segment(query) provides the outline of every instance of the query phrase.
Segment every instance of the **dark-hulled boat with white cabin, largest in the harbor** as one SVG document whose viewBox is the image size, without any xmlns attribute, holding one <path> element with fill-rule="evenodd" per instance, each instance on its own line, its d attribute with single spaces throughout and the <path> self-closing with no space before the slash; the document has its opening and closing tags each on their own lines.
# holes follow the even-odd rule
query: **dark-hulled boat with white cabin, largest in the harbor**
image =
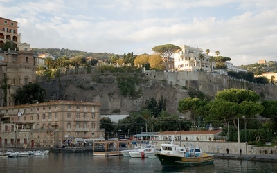
<svg viewBox="0 0 277 173">
<path fill-rule="evenodd" d="M 161 152 L 155 154 L 163 167 L 190 167 L 197 165 L 213 164 L 213 154 L 202 153 L 202 150 L 190 147 L 175 145 L 173 140 L 170 144 L 161 144 Z"/>
</svg>

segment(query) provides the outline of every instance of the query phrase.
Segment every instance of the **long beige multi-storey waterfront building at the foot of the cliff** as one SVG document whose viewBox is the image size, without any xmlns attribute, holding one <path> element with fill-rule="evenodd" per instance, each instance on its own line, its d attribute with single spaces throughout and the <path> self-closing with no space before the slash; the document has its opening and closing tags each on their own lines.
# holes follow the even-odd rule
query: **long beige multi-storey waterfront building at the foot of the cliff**
<svg viewBox="0 0 277 173">
<path fill-rule="evenodd" d="M 0 146 L 62 147 L 64 140 L 102 138 L 100 104 L 56 101 L 0 108 Z"/>
</svg>

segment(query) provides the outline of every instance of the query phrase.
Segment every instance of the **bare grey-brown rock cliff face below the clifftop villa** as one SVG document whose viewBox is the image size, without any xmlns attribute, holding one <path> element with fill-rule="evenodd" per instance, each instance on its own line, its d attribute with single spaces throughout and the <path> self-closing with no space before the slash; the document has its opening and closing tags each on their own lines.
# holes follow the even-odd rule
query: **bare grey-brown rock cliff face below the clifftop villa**
<svg viewBox="0 0 277 173">
<path fill-rule="evenodd" d="M 187 89 L 194 89 L 214 98 L 217 91 L 230 88 L 251 89 L 263 93 L 265 100 L 276 100 L 277 87 L 252 84 L 231 80 L 226 75 L 215 73 L 159 72 L 145 73 L 143 83 L 138 88 L 141 93 L 136 98 L 123 97 L 116 81 L 117 73 L 67 75 L 53 80 L 38 80 L 46 89 L 47 100 L 76 100 L 83 102 L 100 102 L 100 114 L 129 114 L 139 111 L 145 100 L 161 96 L 166 98 L 167 111 L 181 115 L 177 111 L 179 100 L 188 97 Z M 184 87 L 186 86 L 186 87 Z"/>
</svg>

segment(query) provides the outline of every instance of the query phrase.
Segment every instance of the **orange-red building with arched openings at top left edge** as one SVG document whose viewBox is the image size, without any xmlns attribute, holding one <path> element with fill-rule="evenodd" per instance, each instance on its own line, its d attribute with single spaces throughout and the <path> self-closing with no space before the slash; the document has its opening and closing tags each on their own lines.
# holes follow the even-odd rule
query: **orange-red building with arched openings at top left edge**
<svg viewBox="0 0 277 173">
<path fill-rule="evenodd" d="M 0 46 L 8 40 L 15 42 L 19 46 L 21 35 L 17 29 L 17 21 L 0 17 Z"/>
</svg>

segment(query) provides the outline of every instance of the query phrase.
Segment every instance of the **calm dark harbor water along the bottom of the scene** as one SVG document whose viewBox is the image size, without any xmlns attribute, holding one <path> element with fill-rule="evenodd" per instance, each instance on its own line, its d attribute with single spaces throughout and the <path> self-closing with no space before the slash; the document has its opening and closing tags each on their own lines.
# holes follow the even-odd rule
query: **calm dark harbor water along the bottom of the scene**
<svg viewBox="0 0 277 173">
<path fill-rule="evenodd" d="M 276 172 L 276 163 L 215 159 L 213 165 L 161 166 L 158 158 L 93 156 L 92 153 L 50 153 L 46 156 L 0 158 L 0 172 Z"/>
</svg>

